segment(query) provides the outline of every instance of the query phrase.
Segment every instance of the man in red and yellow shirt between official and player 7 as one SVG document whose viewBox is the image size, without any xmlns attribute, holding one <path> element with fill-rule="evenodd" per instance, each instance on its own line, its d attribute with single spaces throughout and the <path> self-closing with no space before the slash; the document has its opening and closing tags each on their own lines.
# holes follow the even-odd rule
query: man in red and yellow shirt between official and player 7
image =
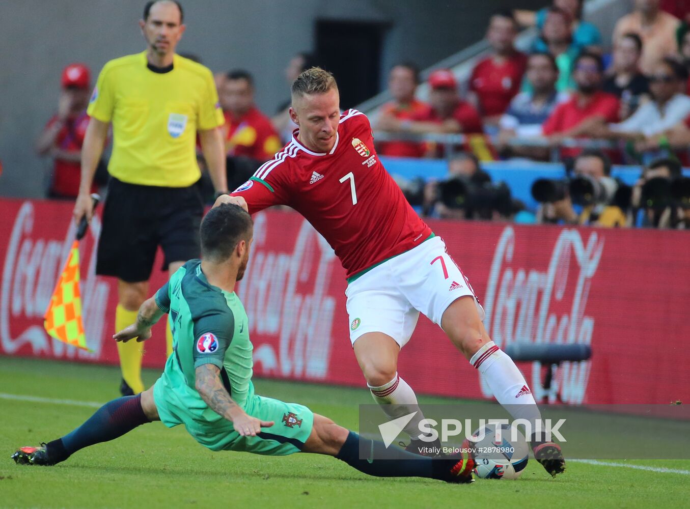
<svg viewBox="0 0 690 509">
<path fill-rule="evenodd" d="M 254 80 L 244 70 L 228 72 L 218 99 L 227 154 L 228 189 L 246 182 L 262 163 L 282 148 L 273 123 L 254 104 Z"/>
</svg>

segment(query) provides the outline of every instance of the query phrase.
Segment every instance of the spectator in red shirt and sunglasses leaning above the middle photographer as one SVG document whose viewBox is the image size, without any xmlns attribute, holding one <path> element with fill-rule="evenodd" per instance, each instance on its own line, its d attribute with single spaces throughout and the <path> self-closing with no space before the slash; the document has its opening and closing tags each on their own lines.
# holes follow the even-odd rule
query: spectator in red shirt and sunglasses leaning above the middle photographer
<svg viewBox="0 0 690 509">
<path fill-rule="evenodd" d="M 573 78 L 577 86 L 571 99 L 556 106 L 546 119 L 544 134 L 558 143 L 563 138 L 587 137 L 589 130 L 618 122 L 620 101 L 602 91 L 604 63 L 595 53 L 583 52 L 575 59 Z M 575 157 L 581 148 L 564 148 L 562 157 Z"/>
</svg>

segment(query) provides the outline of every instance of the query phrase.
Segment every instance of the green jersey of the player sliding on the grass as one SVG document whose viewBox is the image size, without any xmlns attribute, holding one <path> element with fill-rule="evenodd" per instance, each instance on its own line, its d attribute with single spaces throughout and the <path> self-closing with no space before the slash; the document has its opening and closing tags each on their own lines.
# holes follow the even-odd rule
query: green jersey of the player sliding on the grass
<svg viewBox="0 0 690 509">
<path fill-rule="evenodd" d="M 245 408 L 254 395 L 253 346 L 247 315 L 235 292 L 210 285 L 201 272 L 201 261 L 193 259 L 158 290 L 155 301 L 168 313 L 172 329 L 173 353 L 161 376 L 164 386 L 174 392 L 195 421 L 222 420 L 195 389 L 196 368 L 213 364 L 220 368 L 230 396 Z"/>
</svg>

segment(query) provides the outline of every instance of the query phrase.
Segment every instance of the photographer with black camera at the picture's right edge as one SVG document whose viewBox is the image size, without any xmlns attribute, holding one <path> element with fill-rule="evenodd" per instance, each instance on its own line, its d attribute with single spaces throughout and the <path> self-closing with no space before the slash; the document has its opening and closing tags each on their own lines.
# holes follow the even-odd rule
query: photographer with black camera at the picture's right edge
<svg viewBox="0 0 690 509">
<path fill-rule="evenodd" d="M 642 170 L 633 187 L 635 226 L 690 228 L 690 178 L 683 177 L 676 159 L 656 159 Z"/>
</svg>

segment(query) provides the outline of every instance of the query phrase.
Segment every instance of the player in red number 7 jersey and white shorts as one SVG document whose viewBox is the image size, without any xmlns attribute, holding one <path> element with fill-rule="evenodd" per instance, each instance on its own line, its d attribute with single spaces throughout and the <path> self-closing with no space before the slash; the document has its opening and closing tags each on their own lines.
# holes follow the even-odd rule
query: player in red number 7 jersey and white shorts
<svg viewBox="0 0 690 509">
<path fill-rule="evenodd" d="M 290 117 L 298 126 L 292 141 L 216 203 L 237 203 L 250 213 L 288 205 L 331 244 L 347 270 L 350 340 L 367 386 L 392 419 L 414 412 L 404 427 L 409 450 L 440 446 L 423 434 L 417 397 L 397 372 L 400 348 L 420 312 L 441 326 L 513 417 L 535 426 L 541 416 L 522 373 L 491 341 L 484 310 L 444 241 L 415 214 L 378 159 L 366 116 L 340 113 L 335 79 L 319 68 L 299 74 L 292 101 Z M 559 446 L 527 435 L 544 468 L 562 472 Z"/>
</svg>

